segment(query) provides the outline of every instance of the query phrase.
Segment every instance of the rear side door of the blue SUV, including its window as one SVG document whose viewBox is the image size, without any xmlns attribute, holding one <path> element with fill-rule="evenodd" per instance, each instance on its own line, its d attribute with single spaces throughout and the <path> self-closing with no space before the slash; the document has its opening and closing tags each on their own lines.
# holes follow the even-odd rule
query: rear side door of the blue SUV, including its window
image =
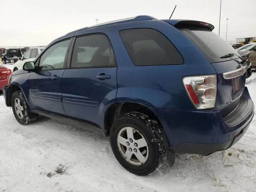
<svg viewBox="0 0 256 192">
<path fill-rule="evenodd" d="M 96 123 L 99 109 L 116 98 L 116 60 L 103 34 L 76 38 L 70 68 L 62 77 L 62 102 L 68 116 Z"/>
</svg>

